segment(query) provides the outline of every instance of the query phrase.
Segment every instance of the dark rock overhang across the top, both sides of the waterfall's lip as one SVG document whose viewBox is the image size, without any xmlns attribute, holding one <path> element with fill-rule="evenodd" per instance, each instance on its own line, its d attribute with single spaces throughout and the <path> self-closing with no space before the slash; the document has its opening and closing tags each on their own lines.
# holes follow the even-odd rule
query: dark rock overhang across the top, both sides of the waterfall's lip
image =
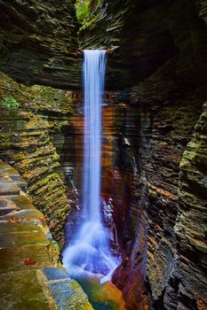
<svg viewBox="0 0 207 310">
<path fill-rule="evenodd" d="M 198 32 L 205 33 L 204 1 L 103 0 L 91 6 L 80 27 L 73 1 L 2 1 L 2 70 L 28 84 L 80 89 L 78 47 L 113 50 L 107 89 L 123 89 L 147 79 L 187 44 L 196 49 Z"/>
</svg>

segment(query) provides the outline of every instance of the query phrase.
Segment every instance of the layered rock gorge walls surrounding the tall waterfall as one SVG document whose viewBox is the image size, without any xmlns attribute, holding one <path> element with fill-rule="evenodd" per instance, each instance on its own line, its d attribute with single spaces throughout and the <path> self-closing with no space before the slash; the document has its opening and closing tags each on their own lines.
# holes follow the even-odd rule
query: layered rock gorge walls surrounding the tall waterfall
<svg viewBox="0 0 207 310">
<path fill-rule="evenodd" d="M 110 250 L 122 261 L 102 296 L 123 298 L 129 310 L 206 309 L 206 2 L 9 0 L 0 9 L 0 157 L 28 183 L 60 249 L 82 208 L 81 50 L 108 50 L 100 206 Z M 16 215 L 4 212 L 0 228 L 9 230 Z M 30 273 L 42 267 L 25 268 L 32 286 Z M 2 267 L 0 276 L 15 278 L 11 272 Z M 35 292 L 28 307 L 23 293 L 10 306 L 6 285 L 1 292 L 4 309 L 52 308 L 36 306 Z"/>
</svg>

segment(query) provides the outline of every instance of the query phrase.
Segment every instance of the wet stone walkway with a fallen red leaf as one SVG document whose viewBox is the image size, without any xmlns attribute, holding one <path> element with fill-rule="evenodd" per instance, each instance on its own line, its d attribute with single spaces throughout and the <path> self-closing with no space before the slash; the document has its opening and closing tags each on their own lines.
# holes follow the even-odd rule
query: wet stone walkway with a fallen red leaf
<svg viewBox="0 0 207 310">
<path fill-rule="evenodd" d="M 92 310 L 26 191 L 18 172 L 0 160 L 0 309 Z"/>
</svg>

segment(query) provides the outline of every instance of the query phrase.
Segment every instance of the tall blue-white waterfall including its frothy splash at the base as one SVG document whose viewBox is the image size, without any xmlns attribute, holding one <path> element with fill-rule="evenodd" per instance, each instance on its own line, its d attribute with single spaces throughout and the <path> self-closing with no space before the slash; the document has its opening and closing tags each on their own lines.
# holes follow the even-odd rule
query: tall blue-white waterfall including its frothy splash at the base
<svg viewBox="0 0 207 310">
<path fill-rule="evenodd" d="M 101 101 L 106 68 L 105 50 L 84 50 L 84 190 L 81 225 L 62 252 L 70 276 L 107 280 L 118 261 L 110 253 L 108 232 L 100 212 Z M 104 280 L 105 279 L 105 280 Z"/>
</svg>

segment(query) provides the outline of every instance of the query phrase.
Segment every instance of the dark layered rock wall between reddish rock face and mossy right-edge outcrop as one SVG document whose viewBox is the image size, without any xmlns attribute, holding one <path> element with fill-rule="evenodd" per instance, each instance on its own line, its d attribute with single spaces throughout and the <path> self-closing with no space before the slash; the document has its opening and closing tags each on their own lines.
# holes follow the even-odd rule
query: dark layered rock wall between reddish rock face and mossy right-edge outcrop
<svg viewBox="0 0 207 310">
<path fill-rule="evenodd" d="M 188 57 L 190 59 L 189 55 Z M 147 178 L 147 196 L 142 199 L 142 205 L 147 211 L 147 277 L 155 308 L 158 309 L 197 309 L 200 301 L 199 298 L 195 298 L 196 290 L 200 291 L 197 296 L 202 298 L 201 305 L 205 303 L 203 280 L 196 278 L 194 289 L 187 281 L 195 272 L 191 269 L 191 262 L 187 265 L 187 261 L 191 261 L 192 257 L 190 252 L 179 252 L 178 249 L 184 244 L 181 240 L 178 242 L 176 231 L 178 212 L 183 208 L 179 199 L 182 182 L 182 166 L 179 167 L 179 163 L 185 160 L 186 152 L 183 151 L 193 135 L 195 124 L 202 113 L 203 102 L 206 100 L 206 81 L 203 79 L 206 73 L 203 70 L 201 74 L 197 74 L 197 79 L 191 80 L 190 76 L 193 76 L 196 66 L 193 66 L 192 61 L 192 66 L 188 67 L 188 71 L 184 71 L 181 58 L 180 55 L 180 60 L 171 59 L 131 91 L 131 100 L 134 103 L 149 105 L 152 109 L 149 155 L 142 166 Z M 203 155 L 201 158 L 203 159 Z M 202 159 L 200 165 L 204 168 Z M 188 190 L 193 194 L 195 187 L 191 185 Z M 202 198 L 202 190 L 197 191 L 197 195 L 201 195 Z M 182 223 L 187 229 L 188 221 Z M 194 228 L 202 233 L 202 227 L 194 219 L 189 229 Z M 181 234 L 185 236 L 184 230 L 182 229 Z M 197 262 L 196 268 L 203 279 L 203 263 Z"/>
</svg>

